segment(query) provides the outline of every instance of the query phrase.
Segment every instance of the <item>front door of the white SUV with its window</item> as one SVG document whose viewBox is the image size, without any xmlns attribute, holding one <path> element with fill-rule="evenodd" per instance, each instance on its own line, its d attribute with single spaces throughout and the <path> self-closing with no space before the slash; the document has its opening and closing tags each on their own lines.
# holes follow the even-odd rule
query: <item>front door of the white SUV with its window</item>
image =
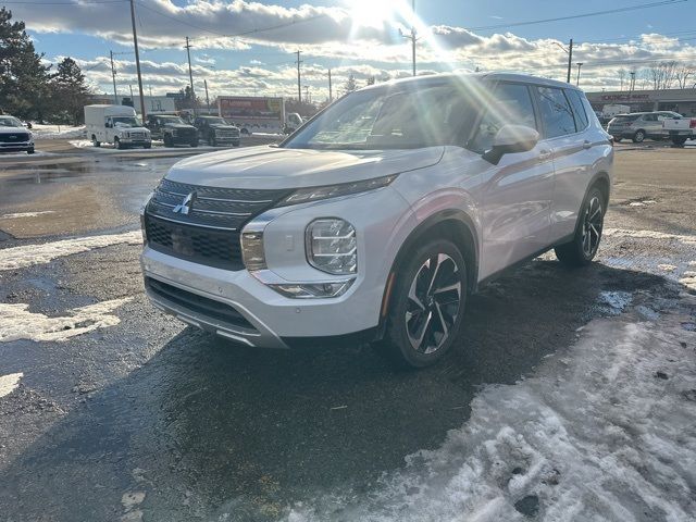
<svg viewBox="0 0 696 522">
<path fill-rule="evenodd" d="M 467 148 L 483 152 L 504 125 L 540 129 L 530 87 L 500 83 Z M 554 162 L 548 146 L 505 154 L 498 165 L 485 160 L 482 172 L 482 241 L 480 278 L 485 278 L 543 249 L 548 244 Z"/>
</svg>

